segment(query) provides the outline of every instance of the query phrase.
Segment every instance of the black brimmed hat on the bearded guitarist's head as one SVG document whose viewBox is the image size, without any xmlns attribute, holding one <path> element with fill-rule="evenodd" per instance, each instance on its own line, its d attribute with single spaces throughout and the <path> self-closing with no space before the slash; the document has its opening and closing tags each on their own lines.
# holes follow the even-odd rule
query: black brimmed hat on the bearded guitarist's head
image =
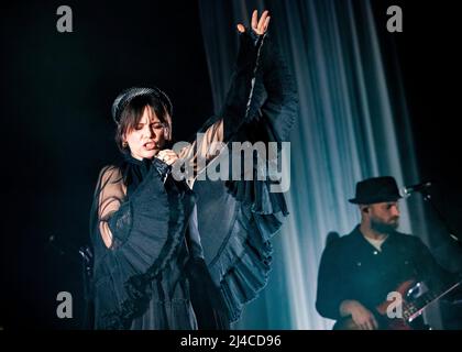
<svg viewBox="0 0 462 352">
<path fill-rule="evenodd" d="M 392 176 L 366 178 L 356 184 L 356 195 L 349 199 L 354 205 L 373 205 L 383 201 L 396 201 L 399 195 L 396 180 Z"/>
</svg>

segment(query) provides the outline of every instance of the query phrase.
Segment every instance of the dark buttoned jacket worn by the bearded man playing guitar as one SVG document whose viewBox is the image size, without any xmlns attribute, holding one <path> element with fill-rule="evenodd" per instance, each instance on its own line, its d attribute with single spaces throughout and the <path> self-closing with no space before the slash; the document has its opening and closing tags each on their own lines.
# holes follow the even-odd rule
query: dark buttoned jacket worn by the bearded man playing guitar
<svg viewBox="0 0 462 352">
<path fill-rule="evenodd" d="M 377 251 L 358 226 L 324 249 L 316 308 L 321 316 L 337 320 L 345 299 L 358 300 L 374 311 L 388 293 L 408 279 L 437 288 L 450 277 L 417 237 L 394 232 Z"/>
</svg>

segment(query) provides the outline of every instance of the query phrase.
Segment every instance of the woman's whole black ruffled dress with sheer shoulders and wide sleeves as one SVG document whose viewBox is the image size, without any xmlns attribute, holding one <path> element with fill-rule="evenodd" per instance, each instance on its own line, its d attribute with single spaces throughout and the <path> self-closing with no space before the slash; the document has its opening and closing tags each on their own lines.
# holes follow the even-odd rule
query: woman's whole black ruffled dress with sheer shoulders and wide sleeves
<svg viewBox="0 0 462 352">
<path fill-rule="evenodd" d="M 226 105 L 200 132 L 224 143 L 283 142 L 296 114 L 267 35 L 241 34 Z M 194 163 L 205 148 L 193 143 L 182 157 Z M 266 283 L 270 239 L 288 213 L 283 194 L 270 191 L 274 182 L 196 180 L 193 191 L 169 170 L 128 156 L 100 173 L 90 220 L 97 329 L 226 329 Z"/>
</svg>

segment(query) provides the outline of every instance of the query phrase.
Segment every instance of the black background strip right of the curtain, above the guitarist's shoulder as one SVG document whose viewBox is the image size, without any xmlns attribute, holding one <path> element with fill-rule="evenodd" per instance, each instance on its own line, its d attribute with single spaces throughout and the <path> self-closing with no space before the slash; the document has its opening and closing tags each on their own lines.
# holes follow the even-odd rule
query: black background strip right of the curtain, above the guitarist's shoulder
<svg viewBox="0 0 462 352">
<path fill-rule="evenodd" d="M 403 9 L 403 33 L 391 35 L 385 25 L 378 25 L 386 23 L 389 4 L 399 4 Z M 415 182 L 435 180 L 435 202 L 452 230 L 460 232 L 462 146 L 459 85 L 462 56 L 457 48 L 461 40 L 458 11 L 449 2 L 431 4 L 427 1 L 374 1 L 374 8 L 388 73 L 393 76 L 393 70 L 396 70 L 402 75 L 403 87 L 391 80 L 389 92 L 392 99 L 402 94 L 406 98 L 420 173 L 420 179 Z M 399 127 L 403 113 L 394 112 Z"/>
</svg>

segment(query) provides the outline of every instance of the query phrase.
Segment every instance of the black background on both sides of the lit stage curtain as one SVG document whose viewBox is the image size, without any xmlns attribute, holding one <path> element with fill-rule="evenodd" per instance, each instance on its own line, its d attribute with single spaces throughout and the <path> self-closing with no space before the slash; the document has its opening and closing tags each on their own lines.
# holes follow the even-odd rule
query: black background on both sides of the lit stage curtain
<svg viewBox="0 0 462 352">
<path fill-rule="evenodd" d="M 110 106 L 119 91 L 162 87 L 174 103 L 177 140 L 213 113 L 197 1 L 67 1 L 74 33 L 56 31 L 61 4 L 19 1 L 0 10 L 4 329 L 80 327 L 77 250 L 88 243 L 98 172 L 118 157 Z M 384 30 L 391 4 L 403 8 L 404 33 Z M 460 234 L 458 11 L 449 1 L 374 1 L 374 11 L 386 68 L 403 76 L 421 179 L 437 180 L 436 202 Z M 398 95 L 398 82 L 389 84 Z M 429 205 L 426 211 L 437 250 L 447 235 Z M 64 290 L 73 294 L 74 319 L 56 318 Z"/>
</svg>

